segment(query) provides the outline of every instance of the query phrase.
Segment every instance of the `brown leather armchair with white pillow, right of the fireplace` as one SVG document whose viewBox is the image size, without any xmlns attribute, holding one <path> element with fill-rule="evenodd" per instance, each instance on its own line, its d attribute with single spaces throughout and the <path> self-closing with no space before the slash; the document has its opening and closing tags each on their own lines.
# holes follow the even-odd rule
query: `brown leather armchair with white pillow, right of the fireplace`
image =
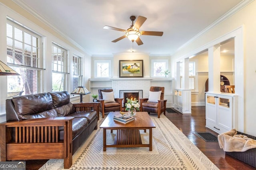
<svg viewBox="0 0 256 170">
<path fill-rule="evenodd" d="M 150 87 L 148 98 L 140 99 L 140 111 L 147 111 L 148 113 L 157 113 L 158 118 L 160 114 L 166 110 L 166 101 L 164 100 L 164 87 Z"/>
</svg>

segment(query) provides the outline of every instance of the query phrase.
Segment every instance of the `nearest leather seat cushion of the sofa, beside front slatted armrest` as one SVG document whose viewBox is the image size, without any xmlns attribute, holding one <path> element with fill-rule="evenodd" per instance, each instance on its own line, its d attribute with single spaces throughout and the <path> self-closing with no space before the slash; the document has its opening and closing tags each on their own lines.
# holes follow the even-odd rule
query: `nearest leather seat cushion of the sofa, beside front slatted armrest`
<svg viewBox="0 0 256 170">
<path fill-rule="evenodd" d="M 80 132 L 82 132 L 88 126 L 88 120 L 84 117 L 72 119 L 72 139 L 76 137 Z M 63 127 L 59 128 L 60 140 L 64 139 L 64 130 Z"/>
</svg>

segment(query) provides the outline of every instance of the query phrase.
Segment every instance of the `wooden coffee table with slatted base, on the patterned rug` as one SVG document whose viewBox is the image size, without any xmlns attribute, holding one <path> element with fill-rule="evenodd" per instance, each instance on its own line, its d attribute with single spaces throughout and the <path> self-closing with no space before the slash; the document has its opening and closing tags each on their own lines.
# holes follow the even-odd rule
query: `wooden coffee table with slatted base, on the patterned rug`
<svg viewBox="0 0 256 170">
<path fill-rule="evenodd" d="M 149 147 L 152 151 L 152 128 L 155 128 L 153 121 L 150 119 L 148 112 L 136 112 L 134 121 L 127 124 L 114 121 L 114 115 L 120 116 L 119 112 L 110 112 L 100 125 L 103 128 L 103 151 L 108 147 L 126 148 L 126 147 Z M 106 130 L 117 130 L 114 144 L 106 144 Z M 149 129 L 149 143 L 142 144 L 140 137 L 140 129 Z"/>
</svg>

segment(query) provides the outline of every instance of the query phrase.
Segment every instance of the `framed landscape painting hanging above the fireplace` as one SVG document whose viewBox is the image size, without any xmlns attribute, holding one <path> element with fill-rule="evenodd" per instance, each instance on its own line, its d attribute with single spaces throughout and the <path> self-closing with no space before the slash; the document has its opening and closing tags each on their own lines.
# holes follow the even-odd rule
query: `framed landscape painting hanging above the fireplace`
<svg viewBox="0 0 256 170">
<path fill-rule="evenodd" d="M 119 60 L 119 77 L 143 77 L 143 60 Z"/>
</svg>

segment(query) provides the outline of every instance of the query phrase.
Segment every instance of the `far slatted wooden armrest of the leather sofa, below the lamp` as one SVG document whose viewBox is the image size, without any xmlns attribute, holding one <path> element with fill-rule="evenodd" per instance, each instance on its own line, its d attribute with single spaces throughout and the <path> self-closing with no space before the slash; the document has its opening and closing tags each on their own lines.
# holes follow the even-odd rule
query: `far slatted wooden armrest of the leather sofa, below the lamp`
<svg viewBox="0 0 256 170">
<path fill-rule="evenodd" d="M 98 120 L 100 119 L 100 102 L 87 102 L 73 104 L 76 111 L 90 111 L 95 110 L 97 112 Z"/>
</svg>

